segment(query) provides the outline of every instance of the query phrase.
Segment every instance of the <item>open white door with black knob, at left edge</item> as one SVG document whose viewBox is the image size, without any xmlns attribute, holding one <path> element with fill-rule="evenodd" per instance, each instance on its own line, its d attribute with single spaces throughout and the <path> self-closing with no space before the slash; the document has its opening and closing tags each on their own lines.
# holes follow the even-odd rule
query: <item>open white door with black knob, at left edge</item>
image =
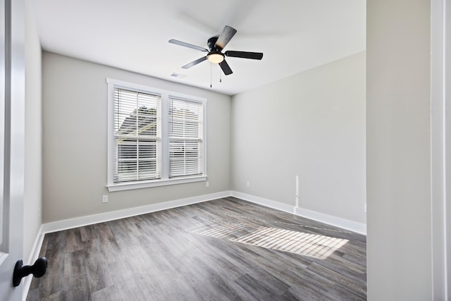
<svg viewBox="0 0 451 301">
<path fill-rule="evenodd" d="M 19 301 L 13 269 L 23 257 L 25 0 L 0 0 L 0 300 Z"/>
</svg>

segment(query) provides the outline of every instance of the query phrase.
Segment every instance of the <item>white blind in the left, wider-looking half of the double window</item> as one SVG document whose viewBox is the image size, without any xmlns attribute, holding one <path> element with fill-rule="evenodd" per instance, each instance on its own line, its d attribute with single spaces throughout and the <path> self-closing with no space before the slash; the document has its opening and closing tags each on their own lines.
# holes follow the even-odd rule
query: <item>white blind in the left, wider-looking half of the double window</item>
<svg viewBox="0 0 451 301">
<path fill-rule="evenodd" d="M 161 178 L 161 97 L 114 88 L 113 182 Z"/>
</svg>

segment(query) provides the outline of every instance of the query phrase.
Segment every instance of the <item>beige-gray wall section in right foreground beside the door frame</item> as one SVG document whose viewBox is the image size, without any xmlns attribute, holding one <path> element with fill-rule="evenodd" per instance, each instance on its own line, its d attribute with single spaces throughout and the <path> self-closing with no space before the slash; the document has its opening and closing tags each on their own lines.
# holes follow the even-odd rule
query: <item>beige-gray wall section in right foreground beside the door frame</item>
<svg viewBox="0 0 451 301">
<path fill-rule="evenodd" d="M 367 1 L 369 300 L 431 300 L 431 1 Z"/>
</svg>

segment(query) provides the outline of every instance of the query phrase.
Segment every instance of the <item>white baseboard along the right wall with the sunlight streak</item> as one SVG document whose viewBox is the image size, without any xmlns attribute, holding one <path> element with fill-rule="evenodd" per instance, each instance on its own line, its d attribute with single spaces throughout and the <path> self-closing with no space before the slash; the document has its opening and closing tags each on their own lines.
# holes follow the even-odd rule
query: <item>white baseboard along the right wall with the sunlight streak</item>
<svg viewBox="0 0 451 301">
<path fill-rule="evenodd" d="M 341 219 L 336 216 L 330 216 L 328 214 L 323 214 L 308 209 L 295 208 L 288 204 L 282 204 L 280 202 L 272 201 L 271 199 L 264 199 L 262 197 L 256 197 L 254 195 L 247 195 L 242 192 L 232 191 L 232 196 L 237 197 L 239 199 L 244 199 L 245 201 L 253 202 L 255 204 L 260 204 L 265 207 L 278 209 L 280 211 L 285 211 L 290 214 L 302 216 L 307 219 L 313 219 L 314 221 L 321 221 L 322 223 L 327 223 L 328 225 L 331 226 L 336 226 L 342 229 L 366 235 L 366 225 L 364 223 L 357 223 L 355 221 Z"/>
</svg>

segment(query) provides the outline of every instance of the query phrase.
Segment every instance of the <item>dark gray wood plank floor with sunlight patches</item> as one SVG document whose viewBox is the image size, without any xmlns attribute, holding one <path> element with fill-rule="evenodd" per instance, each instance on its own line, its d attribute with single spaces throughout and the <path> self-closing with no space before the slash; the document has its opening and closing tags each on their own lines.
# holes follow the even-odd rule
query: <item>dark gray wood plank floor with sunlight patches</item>
<svg viewBox="0 0 451 301">
<path fill-rule="evenodd" d="M 228 197 L 45 235 L 27 300 L 366 300 L 366 237 Z"/>
</svg>

